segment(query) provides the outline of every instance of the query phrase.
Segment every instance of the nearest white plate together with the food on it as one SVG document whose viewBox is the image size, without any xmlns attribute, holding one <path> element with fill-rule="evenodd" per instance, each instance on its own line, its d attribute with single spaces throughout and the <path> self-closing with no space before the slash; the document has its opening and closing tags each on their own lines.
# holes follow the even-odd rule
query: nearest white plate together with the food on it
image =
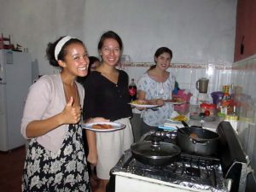
<svg viewBox="0 0 256 192">
<path fill-rule="evenodd" d="M 96 132 L 110 132 L 110 131 L 118 131 L 125 128 L 125 124 L 117 123 L 117 122 L 95 122 L 95 123 L 87 123 L 82 124 L 82 128 L 90 131 Z"/>
</svg>

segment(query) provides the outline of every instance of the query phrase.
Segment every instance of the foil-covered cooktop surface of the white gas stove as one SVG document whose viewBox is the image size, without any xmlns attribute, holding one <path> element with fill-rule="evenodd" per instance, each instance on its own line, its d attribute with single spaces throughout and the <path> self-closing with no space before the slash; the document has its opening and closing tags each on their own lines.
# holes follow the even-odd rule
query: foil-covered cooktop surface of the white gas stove
<svg viewBox="0 0 256 192">
<path fill-rule="evenodd" d="M 127 155 L 127 157 L 125 157 Z M 183 187 L 209 191 L 230 191 L 230 180 L 223 178 L 220 162 L 191 158 L 181 154 L 180 160 L 168 166 L 148 166 L 130 156 L 126 152 L 121 160 L 124 164 L 117 165 L 113 172 L 127 172 L 137 176 L 153 178 L 166 183 L 175 183 Z"/>
</svg>

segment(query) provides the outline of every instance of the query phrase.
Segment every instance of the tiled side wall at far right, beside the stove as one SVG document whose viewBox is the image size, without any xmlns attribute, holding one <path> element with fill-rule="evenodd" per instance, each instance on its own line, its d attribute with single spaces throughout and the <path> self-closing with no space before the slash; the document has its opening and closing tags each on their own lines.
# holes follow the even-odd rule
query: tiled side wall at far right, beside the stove
<svg viewBox="0 0 256 192">
<path fill-rule="evenodd" d="M 239 103 L 238 135 L 256 170 L 256 55 L 233 64 L 231 82 Z"/>
</svg>

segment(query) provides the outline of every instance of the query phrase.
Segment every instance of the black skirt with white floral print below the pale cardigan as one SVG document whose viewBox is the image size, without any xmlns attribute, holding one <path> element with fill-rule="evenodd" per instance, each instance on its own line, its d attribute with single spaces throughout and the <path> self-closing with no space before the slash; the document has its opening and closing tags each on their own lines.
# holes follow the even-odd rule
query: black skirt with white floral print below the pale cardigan
<svg viewBox="0 0 256 192">
<path fill-rule="evenodd" d="M 90 191 L 82 129 L 69 125 L 61 149 L 54 153 L 32 139 L 26 153 L 22 191 Z"/>
</svg>

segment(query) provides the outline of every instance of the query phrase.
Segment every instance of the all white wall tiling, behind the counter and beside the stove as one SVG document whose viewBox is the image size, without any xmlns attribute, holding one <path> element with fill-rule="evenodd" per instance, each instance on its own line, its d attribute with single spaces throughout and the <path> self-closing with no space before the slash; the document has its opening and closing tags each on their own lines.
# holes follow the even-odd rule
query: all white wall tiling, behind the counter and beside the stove
<svg viewBox="0 0 256 192">
<path fill-rule="evenodd" d="M 133 62 L 122 64 L 120 68 L 124 69 L 130 78 L 137 81 L 151 65 L 154 63 Z M 191 90 L 193 96 L 190 102 L 192 104 L 195 104 L 198 95 L 198 90 L 195 89 L 197 79 L 202 77 L 210 79 L 209 95 L 212 91 L 222 90 L 223 84 L 234 85 L 235 98 L 238 103 L 238 137 L 251 160 L 253 170 L 256 170 L 256 55 L 233 64 L 172 63 L 168 71 L 176 76 L 181 89 Z"/>
</svg>

